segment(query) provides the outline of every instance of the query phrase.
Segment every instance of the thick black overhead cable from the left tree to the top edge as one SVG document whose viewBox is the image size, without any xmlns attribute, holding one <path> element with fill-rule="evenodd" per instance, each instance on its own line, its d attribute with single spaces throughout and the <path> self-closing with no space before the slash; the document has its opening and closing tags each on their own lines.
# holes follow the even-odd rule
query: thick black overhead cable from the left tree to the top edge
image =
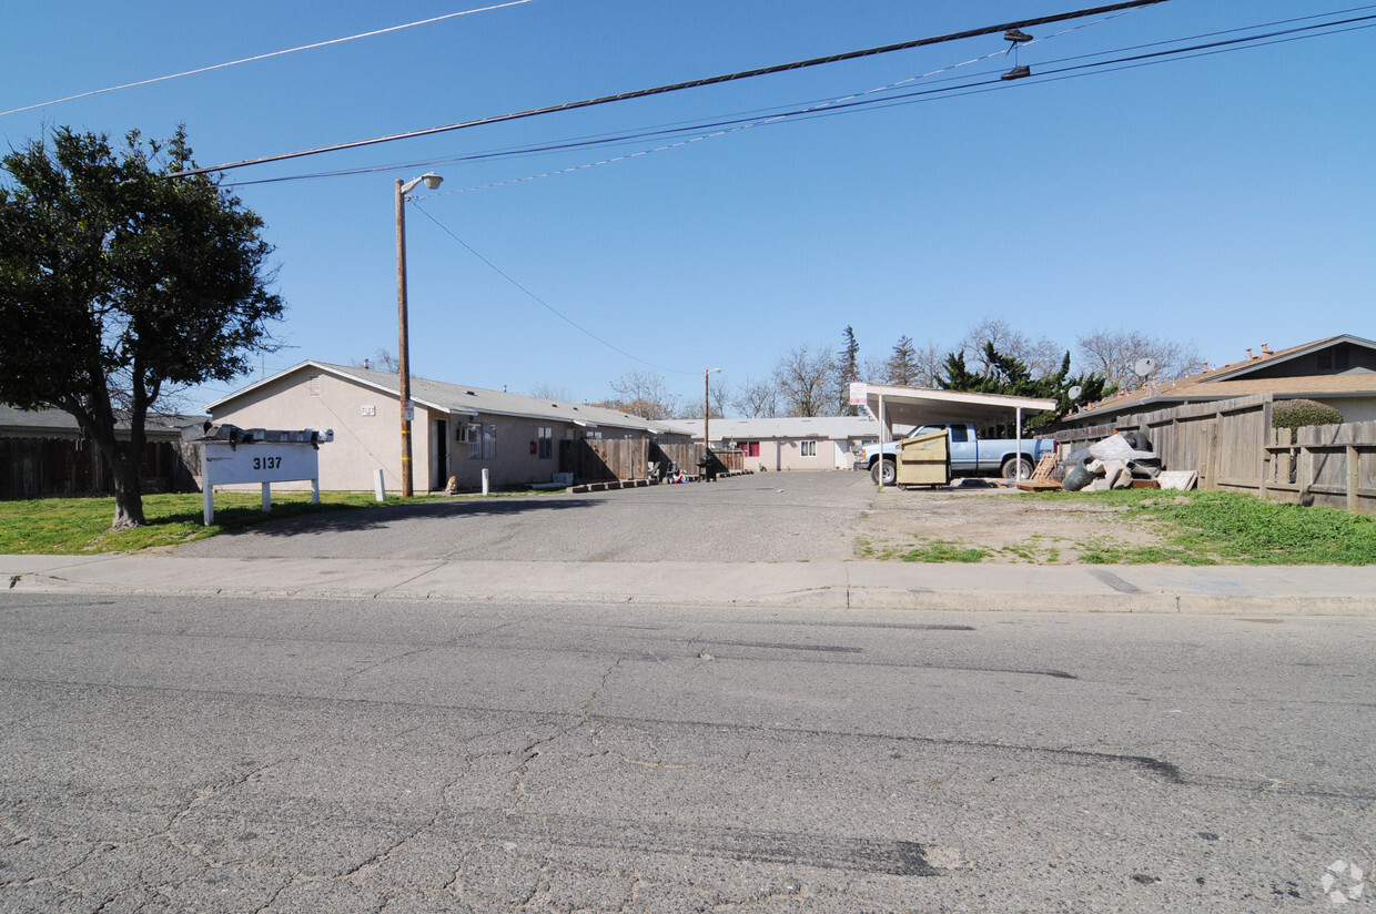
<svg viewBox="0 0 1376 914">
<path fill-rule="evenodd" d="M 527 109 L 524 111 L 515 111 L 510 114 L 497 114 L 493 117 L 476 118 L 472 121 L 461 121 L 458 124 L 446 124 L 443 126 L 432 126 L 422 131 L 407 131 L 405 133 L 392 133 L 388 136 L 376 136 L 366 140 L 354 140 L 350 143 L 336 143 L 333 146 L 319 146 L 310 150 L 300 150 L 296 153 L 279 153 L 277 155 L 264 155 L 252 159 L 244 159 L 239 162 L 227 162 L 223 165 L 212 165 L 208 168 L 193 168 L 184 172 L 175 172 L 168 177 L 189 177 L 193 175 L 205 175 L 209 172 L 227 172 L 235 168 L 246 168 L 249 165 L 266 165 L 268 162 L 282 162 L 293 158 L 303 158 L 307 155 L 321 155 L 323 153 L 338 153 L 343 150 L 362 148 L 365 146 L 377 146 L 380 143 L 394 143 L 396 140 L 409 140 L 421 136 L 433 136 L 436 133 L 447 133 L 451 131 L 462 131 L 473 126 L 486 126 L 488 124 L 502 124 L 506 121 L 516 121 L 530 117 L 538 117 L 542 114 L 555 114 L 557 111 L 574 111 L 578 109 L 593 107 L 597 104 L 611 104 L 612 102 L 626 102 L 629 99 L 641 99 L 652 95 L 666 95 L 669 92 L 680 92 L 682 89 L 695 89 L 705 85 L 720 85 L 722 82 L 733 82 L 738 80 L 749 80 L 760 76 L 769 76 L 773 73 L 787 73 L 791 70 L 802 70 L 815 66 L 823 66 L 827 63 L 839 63 L 842 60 L 856 60 L 860 58 L 875 56 L 881 54 L 892 54 L 894 51 L 908 51 L 912 48 L 927 47 L 933 44 L 941 44 L 947 41 L 959 41 L 963 38 L 974 38 L 984 34 L 995 34 L 998 32 L 1007 32 L 1010 29 L 1031 29 L 1039 25 L 1047 25 L 1051 22 L 1064 22 L 1066 19 L 1079 19 L 1083 16 L 1099 15 L 1104 12 L 1115 12 L 1117 10 L 1132 10 L 1137 7 L 1149 7 L 1159 3 L 1165 3 L 1167 0 L 1128 0 L 1127 3 L 1115 3 L 1104 7 L 1091 7 L 1086 10 L 1076 10 L 1073 12 L 1058 12 L 1049 16 L 1038 16 L 1035 19 L 1020 19 L 1017 22 L 1004 22 L 1000 25 L 984 26 L 980 29 L 969 29 L 966 32 L 954 32 L 949 34 L 933 36 L 927 38 L 915 38 L 912 41 L 900 41 L 897 44 L 885 44 L 874 48 L 864 48 L 861 51 L 848 51 L 843 54 L 832 54 L 821 58 L 810 58 L 806 60 L 794 60 L 791 63 L 777 63 L 766 67 L 757 67 L 754 70 L 739 70 L 736 73 L 727 73 L 722 76 L 711 76 L 700 80 L 689 80 L 687 82 L 671 82 L 669 85 L 659 85 L 649 89 L 636 89 L 632 92 L 621 92 L 616 95 L 603 95 L 593 99 L 583 99 L 581 102 L 564 102 L 563 104 L 550 104 L 539 109 Z"/>
</svg>

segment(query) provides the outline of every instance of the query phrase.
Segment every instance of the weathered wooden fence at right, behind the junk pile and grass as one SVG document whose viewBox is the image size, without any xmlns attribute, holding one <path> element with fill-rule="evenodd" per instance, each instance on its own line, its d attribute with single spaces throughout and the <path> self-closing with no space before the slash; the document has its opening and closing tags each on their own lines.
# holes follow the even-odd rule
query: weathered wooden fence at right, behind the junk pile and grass
<svg viewBox="0 0 1376 914">
<path fill-rule="evenodd" d="M 1201 489 L 1376 511 L 1376 422 L 1271 427 L 1271 394 L 1139 412 L 1110 425 L 1055 433 L 1061 451 L 1115 432 L 1141 432 L 1167 470 L 1194 470 Z"/>
</svg>

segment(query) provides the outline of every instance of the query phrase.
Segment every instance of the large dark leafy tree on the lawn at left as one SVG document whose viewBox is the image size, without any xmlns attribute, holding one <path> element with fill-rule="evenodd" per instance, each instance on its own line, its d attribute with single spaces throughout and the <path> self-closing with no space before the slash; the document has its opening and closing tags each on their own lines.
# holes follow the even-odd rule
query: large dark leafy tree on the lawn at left
<svg viewBox="0 0 1376 914">
<path fill-rule="evenodd" d="M 72 414 L 110 469 L 113 526 L 142 525 L 149 410 L 271 348 L 263 221 L 209 176 L 169 177 L 194 168 L 183 128 L 118 153 L 61 128 L 0 168 L 0 401 Z"/>
</svg>

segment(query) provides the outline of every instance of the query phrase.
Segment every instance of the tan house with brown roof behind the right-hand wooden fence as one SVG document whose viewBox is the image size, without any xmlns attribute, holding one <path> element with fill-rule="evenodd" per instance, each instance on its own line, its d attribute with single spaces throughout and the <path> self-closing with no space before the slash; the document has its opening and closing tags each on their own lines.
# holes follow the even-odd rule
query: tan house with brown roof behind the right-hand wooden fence
<svg viewBox="0 0 1376 914">
<path fill-rule="evenodd" d="M 1344 422 L 1370 422 L 1376 419 L 1376 342 L 1344 334 L 1278 350 L 1262 344 L 1240 361 L 1178 381 L 1149 381 L 1088 404 L 1065 416 L 1061 426 L 1109 425 L 1120 415 L 1259 393 L 1277 400 L 1317 400 L 1342 412 Z"/>
</svg>

